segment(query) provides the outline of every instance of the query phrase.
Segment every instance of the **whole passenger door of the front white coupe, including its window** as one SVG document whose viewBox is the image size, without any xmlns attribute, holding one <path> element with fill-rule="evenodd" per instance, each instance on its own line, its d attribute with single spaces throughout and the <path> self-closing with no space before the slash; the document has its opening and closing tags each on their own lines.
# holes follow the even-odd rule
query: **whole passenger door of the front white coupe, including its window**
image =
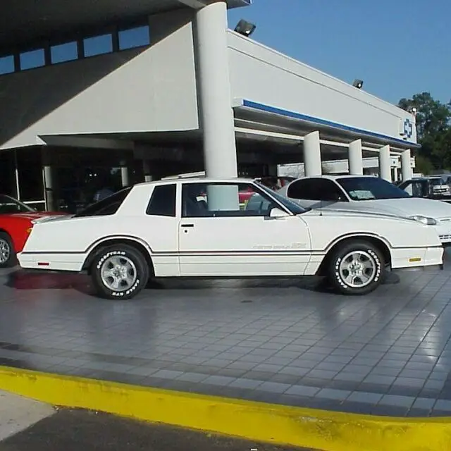
<svg viewBox="0 0 451 451">
<path fill-rule="evenodd" d="M 310 235 L 302 218 L 286 213 L 252 183 L 183 183 L 179 229 L 182 276 L 302 275 L 310 259 Z M 239 205 L 239 192 L 264 197 L 258 209 Z"/>
</svg>

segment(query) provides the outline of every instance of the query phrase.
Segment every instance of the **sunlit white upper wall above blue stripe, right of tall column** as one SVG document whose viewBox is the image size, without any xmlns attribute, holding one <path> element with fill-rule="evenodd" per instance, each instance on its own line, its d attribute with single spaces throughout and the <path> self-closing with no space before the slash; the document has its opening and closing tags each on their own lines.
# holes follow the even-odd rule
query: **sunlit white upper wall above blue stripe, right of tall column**
<svg viewBox="0 0 451 451">
<path fill-rule="evenodd" d="M 228 32 L 233 97 L 396 139 L 414 116 L 252 39 Z M 352 81 L 352 80 L 351 80 Z M 412 137 L 416 142 L 415 127 Z"/>
</svg>

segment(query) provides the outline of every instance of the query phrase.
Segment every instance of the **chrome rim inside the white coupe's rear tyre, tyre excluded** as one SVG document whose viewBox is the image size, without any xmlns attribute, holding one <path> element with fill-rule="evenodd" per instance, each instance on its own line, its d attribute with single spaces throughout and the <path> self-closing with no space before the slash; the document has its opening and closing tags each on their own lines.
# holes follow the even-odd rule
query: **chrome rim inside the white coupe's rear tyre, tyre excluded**
<svg viewBox="0 0 451 451">
<path fill-rule="evenodd" d="M 112 255 L 104 261 L 100 269 L 101 281 L 116 292 L 123 292 L 132 288 L 137 280 L 135 264 L 128 257 Z"/>
</svg>

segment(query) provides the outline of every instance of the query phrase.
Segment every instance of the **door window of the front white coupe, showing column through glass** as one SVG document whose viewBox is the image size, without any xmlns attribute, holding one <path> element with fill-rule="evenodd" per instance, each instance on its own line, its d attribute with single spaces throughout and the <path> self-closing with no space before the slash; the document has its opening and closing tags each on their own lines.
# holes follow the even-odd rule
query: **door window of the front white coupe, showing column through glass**
<svg viewBox="0 0 451 451">
<path fill-rule="evenodd" d="M 183 184 L 184 218 L 268 216 L 275 206 L 271 197 L 251 184 Z"/>
</svg>

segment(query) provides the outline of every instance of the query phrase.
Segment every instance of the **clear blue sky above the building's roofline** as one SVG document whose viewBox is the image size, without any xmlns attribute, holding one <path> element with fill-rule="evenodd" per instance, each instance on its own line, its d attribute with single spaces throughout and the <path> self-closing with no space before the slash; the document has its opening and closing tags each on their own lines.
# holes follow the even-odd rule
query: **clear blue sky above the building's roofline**
<svg viewBox="0 0 451 451">
<path fill-rule="evenodd" d="M 451 0 L 253 0 L 229 27 L 240 18 L 253 39 L 387 101 L 451 100 Z"/>
</svg>

